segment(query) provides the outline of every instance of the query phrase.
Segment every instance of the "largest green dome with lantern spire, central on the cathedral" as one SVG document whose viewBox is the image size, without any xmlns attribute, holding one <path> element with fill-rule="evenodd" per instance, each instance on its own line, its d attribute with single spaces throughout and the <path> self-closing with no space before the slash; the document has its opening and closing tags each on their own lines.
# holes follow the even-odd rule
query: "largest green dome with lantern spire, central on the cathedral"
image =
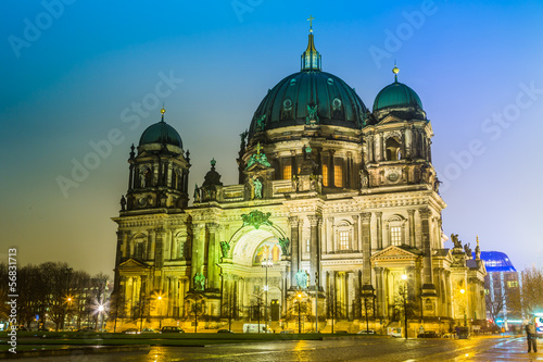
<svg viewBox="0 0 543 362">
<path fill-rule="evenodd" d="M 272 88 L 254 112 L 249 137 L 257 132 L 305 124 L 362 128 L 368 110 L 341 78 L 321 71 L 313 33 L 302 53 L 301 72 Z"/>
</svg>

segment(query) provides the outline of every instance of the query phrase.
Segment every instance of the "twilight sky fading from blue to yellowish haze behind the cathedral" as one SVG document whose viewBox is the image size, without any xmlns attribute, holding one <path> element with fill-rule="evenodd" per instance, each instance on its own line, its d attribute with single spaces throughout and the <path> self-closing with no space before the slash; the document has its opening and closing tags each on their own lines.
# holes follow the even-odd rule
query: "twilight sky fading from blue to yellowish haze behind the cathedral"
<svg viewBox="0 0 543 362">
<path fill-rule="evenodd" d="M 21 264 L 112 275 L 129 147 L 162 102 L 191 153 L 190 195 L 212 158 L 237 183 L 239 134 L 300 70 L 312 14 L 323 70 L 368 108 L 394 60 L 420 96 L 445 234 L 543 266 L 541 1 L 45 0 L 0 13 L 2 261 L 15 246 Z"/>
</svg>

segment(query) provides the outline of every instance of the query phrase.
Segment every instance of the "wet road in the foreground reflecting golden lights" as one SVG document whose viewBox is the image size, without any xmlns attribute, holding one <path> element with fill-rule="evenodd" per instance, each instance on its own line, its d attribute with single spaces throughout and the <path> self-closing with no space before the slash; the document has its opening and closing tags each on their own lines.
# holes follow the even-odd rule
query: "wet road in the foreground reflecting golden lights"
<svg viewBox="0 0 543 362">
<path fill-rule="evenodd" d="M 543 345 L 542 345 L 543 348 Z M 543 349 L 527 353 L 525 338 L 273 341 L 210 347 L 151 347 L 149 353 L 66 355 L 18 361 L 543 361 Z"/>
</svg>

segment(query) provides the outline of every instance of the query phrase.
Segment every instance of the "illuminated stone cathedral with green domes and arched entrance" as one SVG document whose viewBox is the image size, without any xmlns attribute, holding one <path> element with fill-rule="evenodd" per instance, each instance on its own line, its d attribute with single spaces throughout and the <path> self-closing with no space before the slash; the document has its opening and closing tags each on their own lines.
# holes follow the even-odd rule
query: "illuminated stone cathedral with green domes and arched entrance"
<svg viewBox="0 0 543 362">
<path fill-rule="evenodd" d="M 223 185 L 212 160 L 190 195 L 189 152 L 163 109 L 131 147 L 113 219 L 117 321 L 233 311 L 275 323 L 301 298 L 319 329 L 331 319 L 401 326 L 405 312 L 427 328 L 484 320 L 480 252 L 456 236 L 444 248 L 432 126 L 393 73 L 366 108 L 321 70 L 311 30 L 300 72 L 267 92 L 241 135 L 238 185 Z"/>
</svg>

